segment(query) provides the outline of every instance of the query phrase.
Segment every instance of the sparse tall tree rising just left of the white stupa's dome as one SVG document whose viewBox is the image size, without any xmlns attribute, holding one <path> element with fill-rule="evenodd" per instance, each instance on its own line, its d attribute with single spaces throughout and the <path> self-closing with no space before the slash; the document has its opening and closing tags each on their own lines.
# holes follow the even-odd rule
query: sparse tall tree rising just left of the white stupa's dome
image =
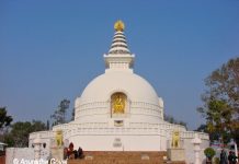
<svg viewBox="0 0 239 164">
<path fill-rule="evenodd" d="M 58 105 L 58 108 L 54 112 L 54 114 L 50 116 L 50 118 L 54 119 L 53 125 L 59 125 L 67 122 L 66 120 L 66 114 L 67 109 L 69 108 L 70 101 L 62 99 L 60 104 Z"/>
</svg>

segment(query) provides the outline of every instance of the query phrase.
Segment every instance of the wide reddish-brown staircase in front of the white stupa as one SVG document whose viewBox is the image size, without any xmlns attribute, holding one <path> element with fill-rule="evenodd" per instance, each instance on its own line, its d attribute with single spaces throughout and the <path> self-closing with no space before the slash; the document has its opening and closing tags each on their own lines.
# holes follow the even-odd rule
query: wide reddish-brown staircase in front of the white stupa
<svg viewBox="0 0 239 164">
<path fill-rule="evenodd" d="M 68 164 L 185 164 L 163 160 L 166 152 L 100 152 L 86 151 L 82 160 L 68 160 Z"/>
</svg>

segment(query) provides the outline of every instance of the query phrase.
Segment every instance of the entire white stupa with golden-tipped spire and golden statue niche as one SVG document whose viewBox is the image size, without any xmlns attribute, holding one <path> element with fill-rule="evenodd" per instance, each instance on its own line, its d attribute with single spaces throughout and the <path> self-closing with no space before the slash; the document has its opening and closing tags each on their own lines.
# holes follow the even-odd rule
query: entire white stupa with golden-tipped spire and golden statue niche
<svg viewBox="0 0 239 164">
<path fill-rule="evenodd" d="M 194 131 L 163 120 L 163 101 L 144 78 L 134 73 L 135 56 L 128 49 L 124 23 L 115 23 L 112 46 L 104 55 L 105 72 L 93 79 L 75 103 L 75 120 L 37 133 L 49 147 L 54 131 L 86 151 L 166 151 L 172 131 L 180 132 L 184 148 L 192 152 Z M 203 147 L 208 136 L 198 133 Z M 186 154 L 187 155 L 187 154 Z"/>
</svg>

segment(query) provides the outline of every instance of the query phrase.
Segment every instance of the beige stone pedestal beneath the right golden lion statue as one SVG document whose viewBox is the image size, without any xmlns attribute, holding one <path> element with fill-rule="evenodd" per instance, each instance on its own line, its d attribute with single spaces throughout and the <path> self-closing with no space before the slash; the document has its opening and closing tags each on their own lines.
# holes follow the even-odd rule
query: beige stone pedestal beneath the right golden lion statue
<svg viewBox="0 0 239 164">
<path fill-rule="evenodd" d="M 167 150 L 170 161 L 185 161 L 185 151 L 181 148 L 172 148 Z"/>
</svg>

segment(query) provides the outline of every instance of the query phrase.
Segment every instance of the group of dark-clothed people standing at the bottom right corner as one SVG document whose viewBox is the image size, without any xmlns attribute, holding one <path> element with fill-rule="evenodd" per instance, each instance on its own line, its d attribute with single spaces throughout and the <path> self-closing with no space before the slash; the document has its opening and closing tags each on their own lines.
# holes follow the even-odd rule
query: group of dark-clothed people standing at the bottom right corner
<svg viewBox="0 0 239 164">
<path fill-rule="evenodd" d="M 220 164 L 237 164 L 237 155 L 230 151 L 228 156 L 227 152 L 223 149 L 220 152 Z"/>
</svg>

